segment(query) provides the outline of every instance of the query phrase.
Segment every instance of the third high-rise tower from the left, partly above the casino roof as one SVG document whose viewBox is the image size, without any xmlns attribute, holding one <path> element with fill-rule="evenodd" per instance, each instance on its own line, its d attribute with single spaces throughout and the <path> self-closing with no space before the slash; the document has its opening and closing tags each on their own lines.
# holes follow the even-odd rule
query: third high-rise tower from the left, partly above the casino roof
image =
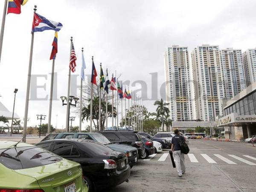
<svg viewBox="0 0 256 192">
<path fill-rule="evenodd" d="M 231 99 L 247 87 L 241 49 L 222 49 L 221 68 L 224 97 Z"/>
</svg>

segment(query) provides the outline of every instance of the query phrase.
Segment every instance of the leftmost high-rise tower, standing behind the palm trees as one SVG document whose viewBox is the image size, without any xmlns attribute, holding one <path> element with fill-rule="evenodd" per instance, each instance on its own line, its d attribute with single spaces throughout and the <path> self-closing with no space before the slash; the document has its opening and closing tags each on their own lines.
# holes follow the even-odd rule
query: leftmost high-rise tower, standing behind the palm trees
<svg viewBox="0 0 256 192">
<path fill-rule="evenodd" d="M 164 52 L 166 101 L 174 121 L 195 119 L 192 71 L 188 47 L 172 46 Z"/>
</svg>

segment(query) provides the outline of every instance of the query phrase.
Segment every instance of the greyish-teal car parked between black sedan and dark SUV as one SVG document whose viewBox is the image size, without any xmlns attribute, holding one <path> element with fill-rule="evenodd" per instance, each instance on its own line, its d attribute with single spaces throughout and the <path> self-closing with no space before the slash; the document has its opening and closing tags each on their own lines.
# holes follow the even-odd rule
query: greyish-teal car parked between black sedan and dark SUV
<svg viewBox="0 0 256 192">
<path fill-rule="evenodd" d="M 113 151 L 119 151 L 124 153 L 126 157 L 128 157 L 128 162 L 131 168 L 134 166 L 135 163 L 138 162 L 139 154 L 138 154 L 137 148 L 129 145 L 120 145 L 120 144 L 111 143 L 107 137 L 105 137 L 100 133 L 64 132 L 64 133 L 59 133 L 54 135 L 55 136 L 53 137 L 52 134 L 49 134 L 42 141 L 48 140 L 48 138 L 52 138 L 52 139 L 77 138 L 77 139 L 93 140 L 108 146 Z"/>
</svg>

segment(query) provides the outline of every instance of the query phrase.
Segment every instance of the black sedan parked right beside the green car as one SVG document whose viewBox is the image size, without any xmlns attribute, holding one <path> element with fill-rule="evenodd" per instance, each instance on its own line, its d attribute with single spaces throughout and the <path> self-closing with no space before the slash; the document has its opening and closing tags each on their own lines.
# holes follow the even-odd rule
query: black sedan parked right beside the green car
<svg viewBox="0 0 256 192">
<path fill-rule="evenodd" d="M 81 164 L 88 191 L 117 186 L 130 177 L 130 166 L 124 153 L 101 143 L 84 139 L 56 139 L 35 144 Z"/>
</svg>

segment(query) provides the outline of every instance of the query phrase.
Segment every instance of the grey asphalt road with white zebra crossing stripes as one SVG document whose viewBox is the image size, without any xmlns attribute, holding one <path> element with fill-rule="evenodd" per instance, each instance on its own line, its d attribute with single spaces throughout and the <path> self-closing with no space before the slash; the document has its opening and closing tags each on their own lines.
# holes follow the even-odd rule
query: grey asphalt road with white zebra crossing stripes
<svg viewBox="0 0 256 192">
<path fill-rule="evenodd" d="M 164 154 L 168 150 L 164 150 L 150 160 L 140 160 L 131 171 L 129 183 L 122 183 L 109 192 L 256 190 L 256 147 L 252 144 L 190 140 L 189 148 L 190 158 L 185 155 L 186 174 L 183 177 L 177 177 L 170 157 Z"/>
</svg>

